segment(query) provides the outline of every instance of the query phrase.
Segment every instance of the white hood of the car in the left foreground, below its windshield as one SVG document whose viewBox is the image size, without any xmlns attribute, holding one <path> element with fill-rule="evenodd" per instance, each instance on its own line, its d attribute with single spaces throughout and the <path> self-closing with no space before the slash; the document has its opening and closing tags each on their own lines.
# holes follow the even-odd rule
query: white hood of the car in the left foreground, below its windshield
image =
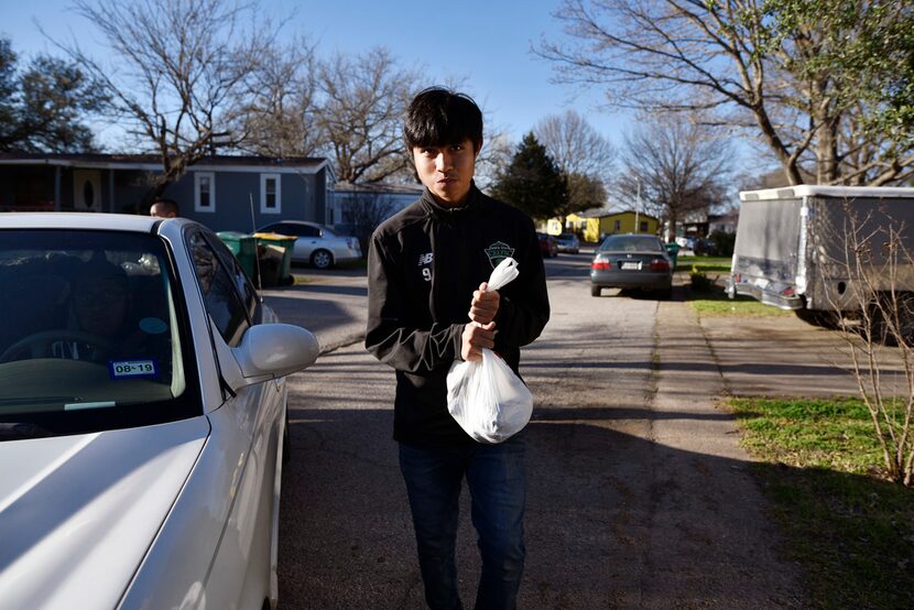
<svg viewBox="0 0 914 610">
<path fill-rule="evenodd" d="M 0 443 L 4 607 L 116 607 L 208 434 L 200 416 Z"/>
</svg>

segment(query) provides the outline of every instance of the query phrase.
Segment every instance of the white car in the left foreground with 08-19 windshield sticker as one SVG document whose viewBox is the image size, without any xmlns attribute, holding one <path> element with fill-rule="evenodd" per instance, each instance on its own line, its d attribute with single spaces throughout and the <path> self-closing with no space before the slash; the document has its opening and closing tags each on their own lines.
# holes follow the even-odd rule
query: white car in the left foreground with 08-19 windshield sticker
<svg viewBox="0 0 914 610">
<path fill-rule="evenodd" d="M 279 324 L 187 219 L 0 214 L 0 608 L 275 608 Z"/>
</svg>

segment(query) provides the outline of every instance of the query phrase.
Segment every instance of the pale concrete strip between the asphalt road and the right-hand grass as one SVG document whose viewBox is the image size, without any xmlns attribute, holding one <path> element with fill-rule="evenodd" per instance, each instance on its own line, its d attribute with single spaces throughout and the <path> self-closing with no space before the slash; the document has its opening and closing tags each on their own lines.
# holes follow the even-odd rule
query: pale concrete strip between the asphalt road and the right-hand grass
<svg viewBox="0 0 914 610">
<path fill-rule="evenodd" d="M 660 305 L 656 336 L 652 439 L 664 449 L 653 469 L 654 573 L 642 606 L 803 607 L 798 570 L 777 556 L 779 534 L 744 468 L 751 458 L 739 446 L 736 422 L 715 405 L 727 384 L 718 348 L 712 351 L 703 324 L 682 302 Z M 735 351 L 738 344 L 743 358 L 755 355 L 739 340 Z"/>
</svg>

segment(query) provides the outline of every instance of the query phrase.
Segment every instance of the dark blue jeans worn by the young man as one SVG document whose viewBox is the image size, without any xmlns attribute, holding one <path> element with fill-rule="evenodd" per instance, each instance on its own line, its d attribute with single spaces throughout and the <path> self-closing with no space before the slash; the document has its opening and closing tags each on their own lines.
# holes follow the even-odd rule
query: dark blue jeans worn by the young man
<svg viewBox="0 0 914 610">
<path fill-rule="evenodd" d="M 433 610 L 463 609 L 455 543 L 464 477 L 482 557 L 476 609 L 515 608 L 525 554 L 523 437 L 521 432 L 499 445 L 458 448 L 400 444 L 400 470 L 413 512 L 425 601 Z"/>
</svg>

